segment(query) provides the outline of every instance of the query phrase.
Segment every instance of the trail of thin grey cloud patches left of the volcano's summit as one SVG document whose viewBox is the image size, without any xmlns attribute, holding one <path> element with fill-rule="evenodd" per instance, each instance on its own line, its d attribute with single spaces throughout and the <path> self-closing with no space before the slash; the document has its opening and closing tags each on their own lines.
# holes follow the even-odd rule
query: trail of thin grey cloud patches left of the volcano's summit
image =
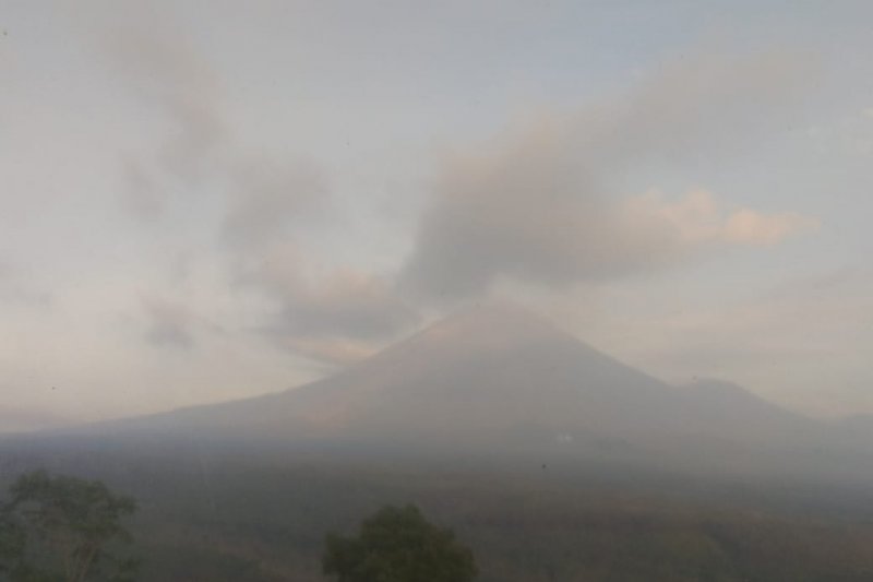
<svg viewBox="0 0 873 582">
<path fill-rule="evenodd" d="M 174 194 L 190 195 L 203 183 L 224 192 L 219 212 L 210 211 L 214 195 L 201 204 L 200 222 L 218 216 L 214 250 L 229 278 L 267 298 L 263 334 L 316 359 L 347 361 L 416 320 L 384 278 L 351 270 L 308 273 L 296 251 L 285 253 L 297 248 L 298 227 L 323 217 L 328 180 L 312 159 L 243 145 L 224 111 L 220 79 L 183 38 L 166 26 L 134 27 L 110 35 L 110 46 L 132 94 L 168 128 L 152 155 L 123 159 L 128 209 L 156 221 L 170 212 Z M 143 300 L 150 343 L 195 345 L 199 323 L 184 301 Z"/>
</svg>

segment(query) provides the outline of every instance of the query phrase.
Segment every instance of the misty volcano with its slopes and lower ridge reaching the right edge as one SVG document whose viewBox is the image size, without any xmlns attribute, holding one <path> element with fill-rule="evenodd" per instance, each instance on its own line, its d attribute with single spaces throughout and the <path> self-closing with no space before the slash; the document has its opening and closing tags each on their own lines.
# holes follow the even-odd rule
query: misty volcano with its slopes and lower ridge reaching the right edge
<svg viewBox="0 0 873 582">
<path fill-rule="evenodd" d="M 873 417 L 815 420 L 722 381 L 667 384 L 530 311 L 489 305 L 303 387 L 20 441 L 49 450 L 109 442 L 133 458 L 155 447 L 192 458 L 259 449 L 419 462 L 534 456 L 868 484 L 871 435 Z"/>
</svg>

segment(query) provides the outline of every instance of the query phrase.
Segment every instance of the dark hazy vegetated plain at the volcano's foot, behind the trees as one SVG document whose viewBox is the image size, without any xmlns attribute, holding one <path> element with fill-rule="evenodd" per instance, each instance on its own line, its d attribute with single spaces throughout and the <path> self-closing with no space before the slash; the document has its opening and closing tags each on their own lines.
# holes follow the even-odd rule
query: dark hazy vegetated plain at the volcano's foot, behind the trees
<svg viewBox="0 0 873 582">
<path fill-rule="evenodd" d="M 477 582 L 873 580 L 864 490 L 571 473 L 551 460 L 543 470 L 541 461 L 55 459 L 53 471 L 74 463 L 140 501 L 130 528 L 141 582 L 325 582 L 325 533 L 359 539 L 362 522 L 398 499 L 457 534 L 475 554 Z"/>
</svg>

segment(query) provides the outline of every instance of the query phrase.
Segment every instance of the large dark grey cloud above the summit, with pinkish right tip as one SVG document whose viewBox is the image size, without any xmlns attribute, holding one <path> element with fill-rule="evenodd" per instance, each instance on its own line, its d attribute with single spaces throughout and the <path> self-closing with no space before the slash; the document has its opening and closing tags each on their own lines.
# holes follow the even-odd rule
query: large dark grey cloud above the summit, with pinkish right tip
<svg viewBox="0 0 873 582">
<path fill-rule="evenodd" d="M 794 214 L 727 216 L 709 194 L 617 200 L 622 171 L 734 143 L 740 121 L 778 124 L 803 94 L 796 58 L 698 59 L 633 92 L 545 115 L 447 161 L 400 274 L 429 300 L 485 292 L 501 277 L 546 285 L 662 268 L 701 247 L 777 241 L 814 226 Z M 749 123 L 743 123 L 749 129 Z"/>
</svg>

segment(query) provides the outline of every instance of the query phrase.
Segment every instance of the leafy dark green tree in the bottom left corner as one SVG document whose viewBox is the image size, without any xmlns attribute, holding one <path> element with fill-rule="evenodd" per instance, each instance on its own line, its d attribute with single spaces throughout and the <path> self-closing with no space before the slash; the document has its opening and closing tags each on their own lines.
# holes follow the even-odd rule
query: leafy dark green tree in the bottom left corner
<svg viewBox="0 0 873 582">
<path fill-rule="evenodd" d="M 109 548 L 130 543 L 121 524 L 135 501 L 98 480 L 45 471 L 21 475 L 0 506 L 0 574 L 15 582 L 129 580 L 135 560 Z"/>
</svg>

